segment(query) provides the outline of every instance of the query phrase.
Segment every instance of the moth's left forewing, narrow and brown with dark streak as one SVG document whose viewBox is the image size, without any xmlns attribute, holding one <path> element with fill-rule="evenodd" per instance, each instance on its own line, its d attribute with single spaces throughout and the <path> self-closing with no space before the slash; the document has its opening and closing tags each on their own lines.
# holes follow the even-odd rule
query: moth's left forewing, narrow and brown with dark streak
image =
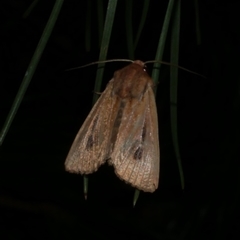
<svg viewBox="0 0 240 240">
<path fill-rule="evenodd" d="M 112 88 L 111 80 L 75 137 L 65 161 L 67 171 L 89 174 L 106 161 L 114 118 Z"/>
</svg>

